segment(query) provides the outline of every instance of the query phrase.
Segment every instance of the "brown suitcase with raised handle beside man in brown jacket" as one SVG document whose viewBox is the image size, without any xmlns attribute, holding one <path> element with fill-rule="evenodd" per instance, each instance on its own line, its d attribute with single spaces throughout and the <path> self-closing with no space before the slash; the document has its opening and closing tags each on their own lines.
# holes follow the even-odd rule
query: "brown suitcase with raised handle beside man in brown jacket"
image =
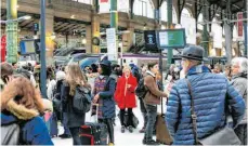
<svg viewBox="0 0 248 146">
<path fill-rule="evenodd" d="M 167 129 L 164 108 L 162 108 L 162 98 L 161 98 L 161 114 L 157 115 L 156 137 L 157 137 L 157 142 L 160 144 L 171 145 L 173 142 Z"/>
</svg>

